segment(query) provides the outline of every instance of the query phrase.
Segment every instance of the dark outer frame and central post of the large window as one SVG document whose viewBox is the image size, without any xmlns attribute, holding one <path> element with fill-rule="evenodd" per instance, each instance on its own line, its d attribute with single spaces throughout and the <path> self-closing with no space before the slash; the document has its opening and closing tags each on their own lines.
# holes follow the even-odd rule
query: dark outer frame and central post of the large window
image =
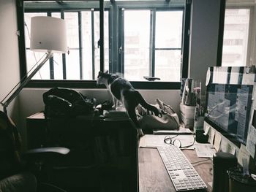
<svg viewBox="0 0 256 192">
<path fill-rule="evenodd" d="M 20 52 L 20 77 L 26 76 L 26 47 L 25 47 L 25 35 L 24 35 L 24 2 L 26 3 L 26 0 L 16 0 L 17 2 L 17 18 L 18 18 L 18 28 L 20 29 L 20 37 L 19 37 L 19 52 Z M 145 4 L 147 5 L 145 6 Z M 37 2 L 40 4 L 44 4 L 43 2 Z M 80 3 L 79 1 L 77 2 Z M 48 3 L 45 4 L 45 6 L 40 6 L 40 9 L 48 9 L 49 11 L 56 11 L 56 9 L 60 9 L 57 6 L 50 6 L 50 9 L 48 7 Z M 55 3 L 53 3 L 55 4 Z M 96 4 L 99 4 L 99 2 L 96 2 Z M 181 45 L 181 54 L 183 55 L 183 58 L 181 58 L 181 78 L 187 78 L 188 76 L 188 59 L 189 58 L 189 18 L 190 18 L 190 2 L 186 1 L 186 4 L 181 5 L 175 5 L 173 6 L 173 9 L 184 9 L 184 17 L 183 17 L 183 35 L 182 35 L 182 45 Z M 133 1 L 132 5 L 129 4 L 129 2 L 126 1 L 104 1 L 104 7 L 105 9 L 109 10 L 109 18 L 112 18 L 109 20 L 109 34 L 112 32 L 113 36 L 116 35 L 118 37 L 117 39 L 112 40 L 110 42 L 109 48 L 112 50 L 109 53 L 109 59 L 110 64 L 109 68 L 110 70 L 113 70 L 114 67 L 120 67 L 118 66 L 118 62 L 121 59 L 119 54 L 114 54 L 115 51 L 117 53 L 118 51 L 118 42 L 120 42 L 121 37 L 118 35 L 117 29 L 120 27 L 118 25 L 119 20 L 115 17 L 116 15 L 121 14 L 119 9 L 121 7 L 128 7 L 129 8 L 163 8 L 166 6 L 169 6 L 168 1 Z M 87 7 L 88 6 L 88 7 Z M 88 4 L 86 4 L 86 8 L 91 9 L 91 6 L 95 7 L 95 1 L 88 1 Z M 183 6 L 183 7 L 182 7 Z M 67 8 L 67 7 L 66 7 Z M 81 9 L 84 9 L 85 7 L 82 7 Z M 29 8 L 30 10 L 33 10 L 33 7 Z M 75 10 L 78 11 L 76 7 L 69 6 L 70 11 Z M 37 10 L 38 12 L 38 10 Z M 144 81 L 131 81 L 132 85 L 135 88 L 138 89 L 180 89 L 181 82 L 144 82 Z M 31 80 L 27 85 L 27 88 L 52 88 L 52 87 L 67 87 L 67 88 L 105 88 L 105 86 L 97 86 L 96 80 Z"/>
</svg>

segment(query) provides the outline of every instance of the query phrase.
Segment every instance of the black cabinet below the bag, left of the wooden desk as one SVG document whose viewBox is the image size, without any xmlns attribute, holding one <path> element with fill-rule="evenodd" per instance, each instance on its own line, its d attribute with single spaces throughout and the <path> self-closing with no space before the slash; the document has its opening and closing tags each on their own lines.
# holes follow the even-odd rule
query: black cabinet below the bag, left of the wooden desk
<svg viewBox="0 0 256 192">
<path fill-rule="evenodd" d="M 129 118 L 26 119 L 28 147 L 69 147 L 50 180 L 69 191 L 138 191 L 138 134 Z M 67 168 L 67 169 L 65 169 Z"/>
</svg>

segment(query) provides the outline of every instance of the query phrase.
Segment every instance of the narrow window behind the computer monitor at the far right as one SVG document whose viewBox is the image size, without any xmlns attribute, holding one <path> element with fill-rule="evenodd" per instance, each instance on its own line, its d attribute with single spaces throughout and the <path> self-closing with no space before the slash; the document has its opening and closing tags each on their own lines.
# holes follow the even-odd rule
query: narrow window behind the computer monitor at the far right
<svg viewBox="0 0 256 192">
<path fill-rule="evenodd" d="M 255 65 L 256 2 L 252 0 L 223 0 L 221 2 L 217 65 Z"/>
</svg>

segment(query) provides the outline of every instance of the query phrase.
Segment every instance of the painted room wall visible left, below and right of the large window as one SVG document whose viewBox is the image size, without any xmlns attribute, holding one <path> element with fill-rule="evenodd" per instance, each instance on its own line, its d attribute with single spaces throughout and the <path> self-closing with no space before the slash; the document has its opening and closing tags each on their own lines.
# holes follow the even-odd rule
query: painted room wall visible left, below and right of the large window
<svg viewBox="0 0 256 192">
<path fill-rule="evenodd" d="M 219 0 L 192 0 L 192 45 L 189 58 L 189 75 L 192 78 L 205 81 L 208 66 L 216 65 L 218 22 Z M 19 80 L 18 39 L 15 34 L 17 30 L 15 0 L 0 0 L 0 28 L 0 96 L 2 98 Z M 45 91 L 48 91 L 48 89 L 25 88 L 19 94 L 20 122 L 18 122 L 18 126 L 23 141 L 26 141 L 26 117 L 43 110 L 42 93 L 45 93 Z M 96 98 L 98 101 L 110 99 L 106 90 L 79 91 L 86 96 Z M 179 90 L 141 90 L 140 93 L 149 103 L 154 104 L 155 99 L 159 98 L 178 110 Z"/>
</svg>

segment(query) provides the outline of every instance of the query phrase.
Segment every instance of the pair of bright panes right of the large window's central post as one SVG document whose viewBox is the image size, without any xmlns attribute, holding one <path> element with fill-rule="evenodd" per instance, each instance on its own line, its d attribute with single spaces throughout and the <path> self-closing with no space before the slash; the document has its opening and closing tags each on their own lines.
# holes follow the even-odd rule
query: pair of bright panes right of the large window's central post
<svg viewBox="0 0 256 192">
<path fill-rule="evenodd" d="M 178 82 L 182 20 L 182 10 L 124 10 L 124 77 Z"/>
</svg>

